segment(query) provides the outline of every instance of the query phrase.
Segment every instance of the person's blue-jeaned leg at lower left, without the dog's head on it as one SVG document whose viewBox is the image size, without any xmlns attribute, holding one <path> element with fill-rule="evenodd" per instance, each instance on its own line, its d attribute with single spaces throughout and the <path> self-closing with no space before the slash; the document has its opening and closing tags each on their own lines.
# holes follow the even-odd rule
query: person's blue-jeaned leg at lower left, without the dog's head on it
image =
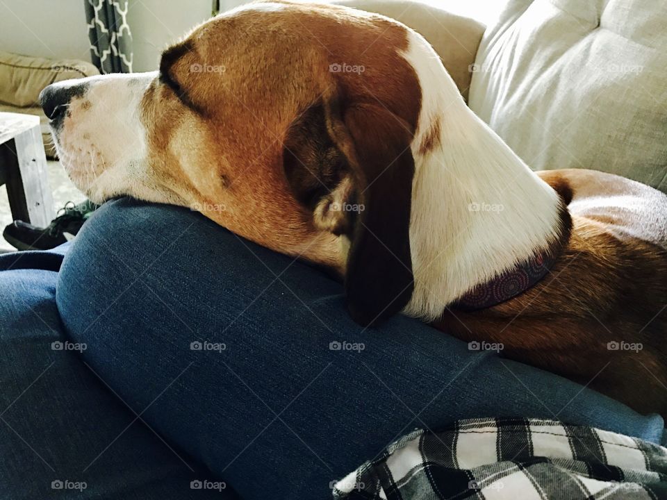
<svg viewBox="0 0 667 500">
<path fill-rule="evenodd" d="M 87 346 L 65 337 L 55 297 L 64 252 L 0 256 L 0 498 L 195 498 L 190 481 L 209 473 L 142 424 L 83 364 Z"/>
</svg>

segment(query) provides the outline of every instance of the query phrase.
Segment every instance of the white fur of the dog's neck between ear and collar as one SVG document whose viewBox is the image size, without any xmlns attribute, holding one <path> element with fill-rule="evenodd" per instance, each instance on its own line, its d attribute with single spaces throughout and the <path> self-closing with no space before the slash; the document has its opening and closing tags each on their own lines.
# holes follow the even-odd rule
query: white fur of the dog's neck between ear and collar
<svg viewBox="0 0 667 500">
<path fill-rule="evenodd" d="M 558 252 L 569 226 L 557 192 L 472 113 L 444 68 L 408 56 L 422 111 L 413 141 L 415 285 L 405 312 L 436 319 L 475 285 Z"/>
</svg>

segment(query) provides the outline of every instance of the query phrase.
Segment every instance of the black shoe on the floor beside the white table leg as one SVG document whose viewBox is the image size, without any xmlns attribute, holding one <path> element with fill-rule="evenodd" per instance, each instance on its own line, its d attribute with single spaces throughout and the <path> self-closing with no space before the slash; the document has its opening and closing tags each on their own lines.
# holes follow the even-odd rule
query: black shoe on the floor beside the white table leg
<svg viewBox="0 0 667 500">
<path fill-rule="evenodd" d="M 58 211 L 58 217 L 53 219 L 49 226 L 39 228 L 17 220 L 9 224 L 2 235 L 18 250 L 49 250 L 72 240 L 97 207 L 88 200 L 79 205 L 69 201 Z"/>
</svg>

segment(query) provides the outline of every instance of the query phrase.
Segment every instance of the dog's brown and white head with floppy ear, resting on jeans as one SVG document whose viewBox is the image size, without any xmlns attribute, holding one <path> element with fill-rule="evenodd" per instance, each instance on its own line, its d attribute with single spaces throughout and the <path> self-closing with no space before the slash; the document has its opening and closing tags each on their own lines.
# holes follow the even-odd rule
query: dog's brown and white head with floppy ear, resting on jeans
<svg viewBox="0 0 667 500">
<path fill-rule="evenodd" d="M 415 156 L 438 140 L 424 71 L 445 75 L 440 85 L 461 99 L 402 24 L 262 2 L 195 28 L 163 53 L 159 72 L 57 83 L 42 106 L 62 163 L 93 201 L 129 194 L 189 206 L 334 267 L 353 317 L 370 324 L 413 290 Z"/>
</svg>

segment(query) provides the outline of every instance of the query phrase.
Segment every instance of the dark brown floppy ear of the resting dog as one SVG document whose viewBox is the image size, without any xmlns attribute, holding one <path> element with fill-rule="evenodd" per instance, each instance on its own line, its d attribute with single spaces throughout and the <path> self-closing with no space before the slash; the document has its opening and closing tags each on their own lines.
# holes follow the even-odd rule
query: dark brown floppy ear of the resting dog
<svg viewBox="0 0 667 500">
<path fill-rule="evenodd" d="M 312 106 L 288 132 L 285 171 L 315 224 L 349 237 L 345 293 L 356 322 L 400 312 L 413 292 L 409 126 L 381 105 Z"/>
</svg>

